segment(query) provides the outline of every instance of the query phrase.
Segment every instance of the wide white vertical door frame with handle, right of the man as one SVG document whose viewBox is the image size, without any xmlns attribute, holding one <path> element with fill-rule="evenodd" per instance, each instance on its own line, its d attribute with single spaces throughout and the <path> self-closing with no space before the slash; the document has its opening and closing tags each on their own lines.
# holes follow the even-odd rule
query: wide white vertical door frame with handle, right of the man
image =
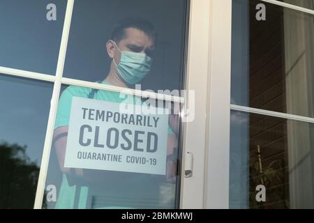
<svg viewBox="0 0 314 223">
<path fill-rule="evenodd" d="M 184 154 L 193 153 L 193 176 L 182 169 L 180 208 L 229 207 L 231 6 L 190 2 L 186 82 L 195 90 L 195 121 L 184 126 Z"/>
</svg>

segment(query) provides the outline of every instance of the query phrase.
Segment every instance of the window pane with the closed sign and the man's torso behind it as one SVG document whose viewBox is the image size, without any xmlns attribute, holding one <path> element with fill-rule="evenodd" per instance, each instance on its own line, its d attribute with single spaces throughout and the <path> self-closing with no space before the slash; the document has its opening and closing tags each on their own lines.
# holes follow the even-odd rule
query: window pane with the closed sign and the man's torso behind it
<svg viewBox="0 0 314 223">
<path fill-rule="evenodd" d="M 179 116 L 148 102 L 63 86 L 46 180 L 57 197 L 43 208 L 179 208 Z"/>
</svg>

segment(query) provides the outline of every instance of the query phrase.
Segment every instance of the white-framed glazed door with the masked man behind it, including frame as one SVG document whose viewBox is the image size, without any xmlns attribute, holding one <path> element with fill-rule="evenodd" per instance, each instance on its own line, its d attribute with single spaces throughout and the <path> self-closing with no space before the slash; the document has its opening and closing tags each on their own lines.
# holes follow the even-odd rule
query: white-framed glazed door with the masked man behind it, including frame
<svg viewBox="0 0 314 223">
<path fill-rule="evenodd" d="M 3 208 L 227 208 L 231 2 L 1 1 Z"/>
</svg>

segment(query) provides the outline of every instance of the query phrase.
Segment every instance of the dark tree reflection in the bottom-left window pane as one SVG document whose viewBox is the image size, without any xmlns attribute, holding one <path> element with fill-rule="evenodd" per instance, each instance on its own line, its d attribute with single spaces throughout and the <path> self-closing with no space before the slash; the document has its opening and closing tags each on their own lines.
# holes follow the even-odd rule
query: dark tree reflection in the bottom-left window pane
<svg viewBox="0 0 314 223">
<path fill-rule="evenodd" d="M 0 208 L 33 208 L 39 167 L 26 148 L 0 144 Z"/>
</svg>

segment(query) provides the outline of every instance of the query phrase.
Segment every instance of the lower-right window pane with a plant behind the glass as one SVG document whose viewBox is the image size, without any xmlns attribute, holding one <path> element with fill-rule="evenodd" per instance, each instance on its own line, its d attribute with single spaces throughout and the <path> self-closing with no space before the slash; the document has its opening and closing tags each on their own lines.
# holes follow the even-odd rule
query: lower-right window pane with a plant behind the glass
<svg viewBox="0 0 314 223">
<path fill-rule="evenodd" d="M 313 208 L 313 124 L 244 112 L 231 121 L 230 208 Z"/>
</svg>

